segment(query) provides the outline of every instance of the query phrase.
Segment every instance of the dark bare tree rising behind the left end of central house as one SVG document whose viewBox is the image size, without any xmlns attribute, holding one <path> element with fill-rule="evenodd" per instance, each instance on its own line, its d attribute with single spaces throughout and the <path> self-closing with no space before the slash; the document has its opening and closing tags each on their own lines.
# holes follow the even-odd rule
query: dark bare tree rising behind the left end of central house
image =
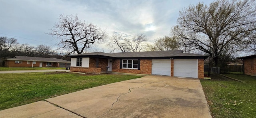
<svg viewBox="0 0 256 118">
<path fill-rule="evenodd" d="M 82 22 L 78 19 L 77 14 L 75 16 L 72 14 L 60 15 L 59 22 L 47 34 L 59 39 L 61 48 L 78 54 L 83 53 L 90 45 L 104 41 L 106 38 L 106 31 L 97 28 L 92 23 Z"/>
</svg>

